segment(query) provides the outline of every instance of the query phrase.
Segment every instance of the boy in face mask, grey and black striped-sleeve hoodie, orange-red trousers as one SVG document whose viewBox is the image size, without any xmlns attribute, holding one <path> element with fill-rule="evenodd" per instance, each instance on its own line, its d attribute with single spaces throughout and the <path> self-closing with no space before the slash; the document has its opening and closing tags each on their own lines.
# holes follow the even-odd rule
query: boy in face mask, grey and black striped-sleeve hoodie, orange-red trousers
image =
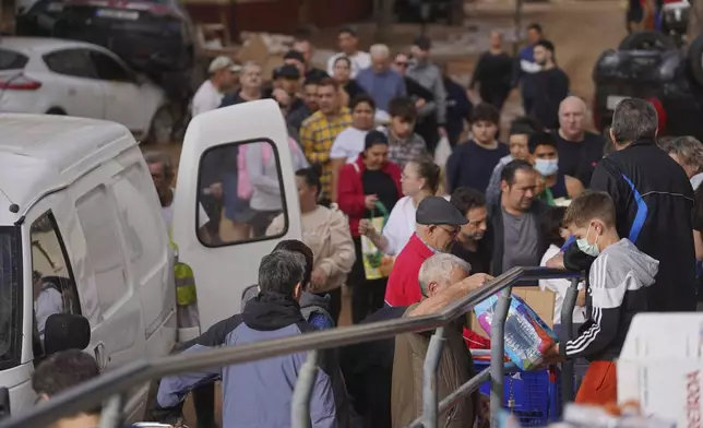
<svg viewBox="0 0 703 428">
<path fill-rule="evenodd" d="M 604 405 L 617 402 L 615 359 L 620 355 L 632 318 L 647 310 L 647 287 L 659 262 L 618 236 L 615 204 L 605 192 L 586 191 L 564 215 L 564 226 L 579 249 L 594 257 L 588 274 L 588 319 L 581 334 L 556 349 L 567 358 L 591 361 L 575 402 Z"/>
</svg>

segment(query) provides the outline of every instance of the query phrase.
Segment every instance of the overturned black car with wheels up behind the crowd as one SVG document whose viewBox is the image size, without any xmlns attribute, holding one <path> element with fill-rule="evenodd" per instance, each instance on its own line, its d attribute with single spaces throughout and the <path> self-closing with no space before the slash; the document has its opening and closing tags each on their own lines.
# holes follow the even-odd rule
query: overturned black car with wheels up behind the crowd
<svg viewBox="0 0 703 428">
<path fill-rule="evenodd" d="M 656 35 L 635 36 L 648 43 L 630 48 L 625 38 L 618 50 L 606 50 L 596 61 L 596 127 L 605 132 L 616 105 L 624 97 L 638 97 L 657 109 L 660 135 L 693 135 L 703 141 L 703 36 L 688 48 L 678 48 L 667 35 L 651 33 Z M 628 37 L 631 43 L 633 37 Z"/>
</svg>

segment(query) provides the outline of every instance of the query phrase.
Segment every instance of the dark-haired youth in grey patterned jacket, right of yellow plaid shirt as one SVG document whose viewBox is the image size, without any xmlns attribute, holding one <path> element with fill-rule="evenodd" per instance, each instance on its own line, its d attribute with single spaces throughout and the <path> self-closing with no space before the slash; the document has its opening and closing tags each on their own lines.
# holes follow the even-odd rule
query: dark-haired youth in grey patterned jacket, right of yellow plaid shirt
<svg viewBox="0 0 703 428">
<path fill-rule="evenodd" d="M 389 160 L 400 165 L 401 169 L 410 160 L 427 154 L 427 145 L 420 135 L 414 132 L 417 120 L 415 103 L 407 97 L 397 97 L 389 103 L 391 123 L 388 127 Z"/>
</svg>

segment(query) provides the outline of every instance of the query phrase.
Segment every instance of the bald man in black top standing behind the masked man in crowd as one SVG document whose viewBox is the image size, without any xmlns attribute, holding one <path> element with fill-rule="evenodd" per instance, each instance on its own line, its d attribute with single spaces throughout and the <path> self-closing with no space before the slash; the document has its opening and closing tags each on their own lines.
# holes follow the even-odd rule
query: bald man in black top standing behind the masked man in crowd
<svg viewBox="0 0 703 428">
<path fill-rule="evenodd" d="M 591 183 L 596 165 L 603 158 L 605 140 L 585 130 L 586 103 L 577 96 L 568 96 L 559 105 L 559 174 L 577 178 L 584 187 Z"/>
</svg>

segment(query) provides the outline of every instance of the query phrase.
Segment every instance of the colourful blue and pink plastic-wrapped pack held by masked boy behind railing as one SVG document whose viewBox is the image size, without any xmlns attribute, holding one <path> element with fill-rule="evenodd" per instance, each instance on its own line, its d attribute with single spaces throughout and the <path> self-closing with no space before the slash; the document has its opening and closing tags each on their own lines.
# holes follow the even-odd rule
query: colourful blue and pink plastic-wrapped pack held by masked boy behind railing
<svg viewBox="0 0 703 428">
<path fill-rule="evenodd" d="M 474 307 L 481 329 L 490 335 L 498 295 Z M 557 343 L 557 335 L 535 311 L 517 296 L 512 296 L 505 319 L 505 354 L 520 370 L 537 368 L 547 353 Z"/>
</svg>

